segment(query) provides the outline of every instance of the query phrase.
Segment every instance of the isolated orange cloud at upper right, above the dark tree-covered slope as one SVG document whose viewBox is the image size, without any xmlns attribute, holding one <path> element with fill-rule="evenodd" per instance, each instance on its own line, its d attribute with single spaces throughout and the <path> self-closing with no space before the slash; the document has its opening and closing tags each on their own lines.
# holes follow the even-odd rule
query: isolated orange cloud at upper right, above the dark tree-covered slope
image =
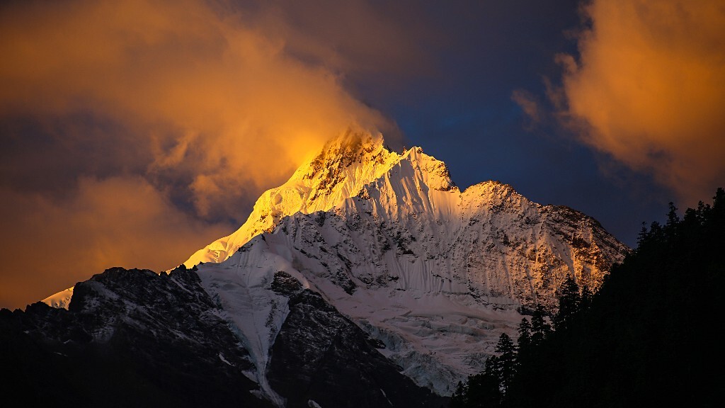
<svg viewBox="0 0 725 408">
<path fill-rule="evenodd" d="M 684 204 L 705 200 L 725 181 L 725 5 L 595 0 L 584 14 L 579 60 L 558 56 L 566 121 Z"/>
</svg>

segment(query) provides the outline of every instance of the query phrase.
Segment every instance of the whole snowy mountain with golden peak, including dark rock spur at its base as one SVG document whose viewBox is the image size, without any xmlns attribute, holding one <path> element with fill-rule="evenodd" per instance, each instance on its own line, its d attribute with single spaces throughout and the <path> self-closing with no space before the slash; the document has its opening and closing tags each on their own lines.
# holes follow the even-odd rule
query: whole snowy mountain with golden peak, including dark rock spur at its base
<svg viewBox="0 0 725 408">
<path fill-rule="evenodd" d="M 399 154 L 380 134 L 351 130 L 181 269 L 198 274 L 266 401 L 377 401 L 370 387 L 389 402 L 407 398 L 370 374 L 379 371 L 424 402 L 416 389 L 448 396 L 482 370 L 523 311 L 554 309 L 567 275 L 596 290 L 628 250 L 583 213 L 497 181 L 461 192 L 420 147 Z M 65 306 L 59 298 L 71 294 L 46 303 Z M 331 387 L 347 391 L 334 399 Z"/>
</svg>

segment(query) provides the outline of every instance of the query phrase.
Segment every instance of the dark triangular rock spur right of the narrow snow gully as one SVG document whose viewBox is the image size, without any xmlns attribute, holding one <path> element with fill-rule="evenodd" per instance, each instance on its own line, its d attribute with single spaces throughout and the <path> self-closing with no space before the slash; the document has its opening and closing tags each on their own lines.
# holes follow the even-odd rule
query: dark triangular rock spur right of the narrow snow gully
<svg viewBox="0 0 725 408">
<path fill-rule="evenodd" d="M 286 407 L 309 407 L 310 401 L 320 407 L 442 404 L 443 399 L 415 385 L 378 351 L 384 344 L 370 338 L 319 293 L 300 289 L 289 296 L 289 314 L 268 365 L 270 385 L 286 400 Z"/>
</svg>

